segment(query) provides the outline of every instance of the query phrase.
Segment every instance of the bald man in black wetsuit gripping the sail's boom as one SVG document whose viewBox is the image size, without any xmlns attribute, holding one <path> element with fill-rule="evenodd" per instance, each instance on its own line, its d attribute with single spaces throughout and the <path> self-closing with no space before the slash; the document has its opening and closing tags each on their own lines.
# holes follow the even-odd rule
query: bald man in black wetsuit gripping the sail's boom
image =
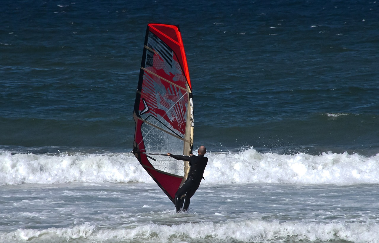
<svg viewBox="0 0 379 243">
<path fill-rule="evenodd" d="M 199 188 L 201 179 L 204 174 L 205 166 L 207 166 L 208 158 L 204 157 L 204 154 L 207 152 L 207 149 L 204 146 L 200 146 L 199 150 L 197 150 L 199 155 L 190 155 L 190 156 L 183 156 L 183 155 L 173 155 L 170 153 L 167 153 L 168 156 L 176 159 L 176 160 L 185 160 L 189 161 L 189 166 L 191 168 L 188 172 L 188 178 L 183 183 L 183 185 L 178 189 L 178 191 L 175 194 L 175 209 L 176 212 L 179 213 L 179 210 L 182 207 L 182 201 L 181 198 L 184 196 L 184 205 L 183 205 L 183 211 L 187 211 L 189 206 L 189 201 L 193 194 L 195 194 L 197 188 Z"/>
</svg>

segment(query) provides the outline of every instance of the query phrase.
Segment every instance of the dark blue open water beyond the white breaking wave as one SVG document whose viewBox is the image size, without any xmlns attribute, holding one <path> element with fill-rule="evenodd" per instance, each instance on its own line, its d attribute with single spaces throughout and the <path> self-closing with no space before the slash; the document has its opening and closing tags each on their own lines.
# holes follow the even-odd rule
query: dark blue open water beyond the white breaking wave
<svg viewBox="0 0 379 243">
<path fill-rule="evenodd" d="M 11 1 L 0 149 L 130 151 L 146 24 L 179 24 L 195 146 L 379 152 L 375 1 Z"/>
</svg>

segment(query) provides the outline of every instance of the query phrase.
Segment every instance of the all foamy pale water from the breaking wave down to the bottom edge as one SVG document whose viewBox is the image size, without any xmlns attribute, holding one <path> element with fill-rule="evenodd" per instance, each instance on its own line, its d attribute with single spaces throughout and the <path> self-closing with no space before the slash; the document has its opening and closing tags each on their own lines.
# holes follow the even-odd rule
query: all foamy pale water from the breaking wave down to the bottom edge
<svg viewBox="0 0 379 243">
<path fill-rule="evenodd" d="M 1 242 L 379 242 L 379 155 L 209 152 L 189 212 L 130 153 L 0 152 Z"/>
</svg>

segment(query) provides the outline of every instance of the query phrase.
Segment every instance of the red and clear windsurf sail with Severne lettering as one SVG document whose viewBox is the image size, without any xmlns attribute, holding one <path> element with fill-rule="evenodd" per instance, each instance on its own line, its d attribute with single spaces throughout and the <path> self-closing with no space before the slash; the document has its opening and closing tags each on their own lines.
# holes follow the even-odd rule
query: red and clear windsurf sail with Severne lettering
<svg viewBox="0 0 379 243">
<path fill-rule="evenodd" d="M 193 147 L 193 102 L 187 60 L 178 26 L 148 24 L 133 111 L 133 154 L 174 202 L 186 180 Z"/>
</svg>

